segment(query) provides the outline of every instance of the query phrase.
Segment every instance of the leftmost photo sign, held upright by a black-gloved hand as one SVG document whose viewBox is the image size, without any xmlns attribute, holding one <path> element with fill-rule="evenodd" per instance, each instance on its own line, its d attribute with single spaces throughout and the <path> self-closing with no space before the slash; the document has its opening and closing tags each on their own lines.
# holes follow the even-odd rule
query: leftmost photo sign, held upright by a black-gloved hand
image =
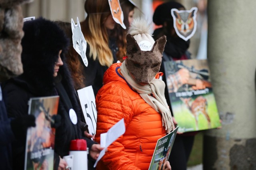
<svg viewBox="0 0 256 170">
<path fill-rule="evenodd" d="M 28 114 L 36 118 L 36 127 L 27 130 L 24 170 L 53 170 L 55 128 L 59 96 L 30 98 Z"/>
</svg>

